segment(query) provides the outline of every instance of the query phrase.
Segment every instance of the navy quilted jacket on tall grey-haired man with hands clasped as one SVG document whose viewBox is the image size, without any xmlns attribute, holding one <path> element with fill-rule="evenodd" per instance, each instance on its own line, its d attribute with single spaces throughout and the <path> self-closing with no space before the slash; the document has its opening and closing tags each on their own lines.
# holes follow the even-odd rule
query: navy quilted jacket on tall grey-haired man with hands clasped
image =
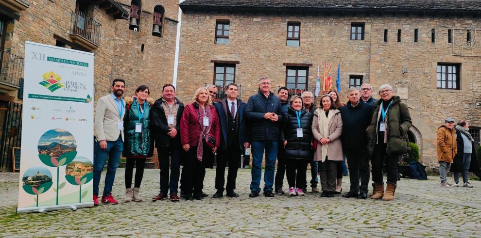
<svg viewBox="0 0 481 238">
<path fill-rule="evenodd" d="M 272 122 L 264 118 L 266 112 L 274 112 L 279 117 L 278 121 Z M 266 98 L 262 92 L 249 97 L 245 116 L 251 123 L 251 140 L 278 141 L 280 138 L 279 126 L 282 122 L 281 104 L 279 98 L 272 92 Z"/>
</svg>

